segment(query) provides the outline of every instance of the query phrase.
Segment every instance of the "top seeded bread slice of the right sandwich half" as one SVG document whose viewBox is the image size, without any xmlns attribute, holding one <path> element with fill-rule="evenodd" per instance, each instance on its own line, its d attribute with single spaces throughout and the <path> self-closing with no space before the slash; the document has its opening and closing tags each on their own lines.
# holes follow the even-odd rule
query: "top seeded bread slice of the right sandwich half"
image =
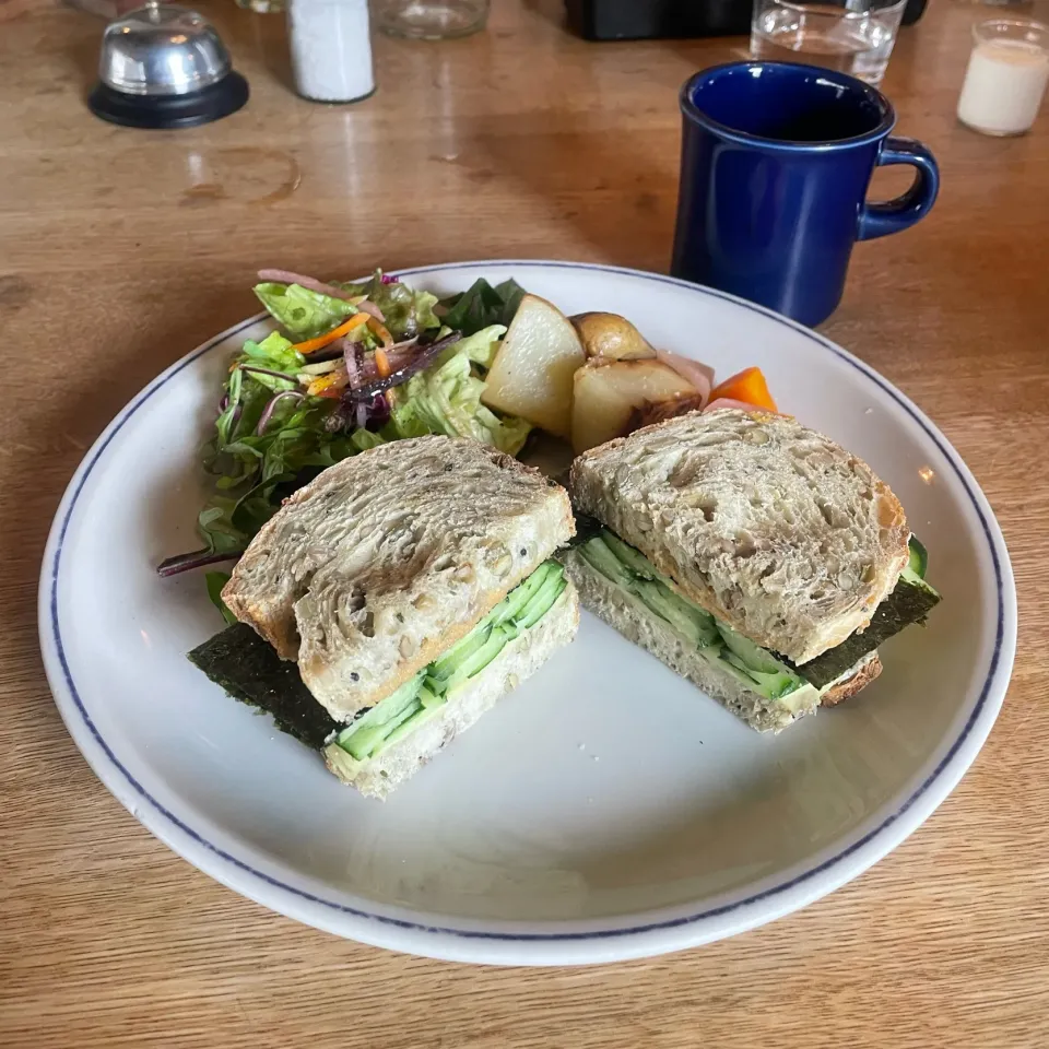
<svg viewBox="0 0 1049 1049">
<path fill-rule="evenodd" d="M 579 456 L 569 491 L 756 644 L 804 663 L 870 623 L 907 564 L 899 500 L 792 419 L 722 409 Z"/>
</svg>

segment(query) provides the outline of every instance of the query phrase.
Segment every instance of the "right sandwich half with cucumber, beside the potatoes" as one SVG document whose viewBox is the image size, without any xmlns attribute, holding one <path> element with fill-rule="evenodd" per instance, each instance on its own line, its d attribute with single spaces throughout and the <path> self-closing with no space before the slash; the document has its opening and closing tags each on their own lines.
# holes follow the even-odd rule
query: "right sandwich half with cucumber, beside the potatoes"
<svg viewBox="0 0 1049 1049">
<path fill-rule="evenodd" d="M 584 605 L 762 731 L 859 692 L 940 600 L 888 486 L 781 415 L 646 427 L 576 459 L 569 491 Z"/>
</svg>

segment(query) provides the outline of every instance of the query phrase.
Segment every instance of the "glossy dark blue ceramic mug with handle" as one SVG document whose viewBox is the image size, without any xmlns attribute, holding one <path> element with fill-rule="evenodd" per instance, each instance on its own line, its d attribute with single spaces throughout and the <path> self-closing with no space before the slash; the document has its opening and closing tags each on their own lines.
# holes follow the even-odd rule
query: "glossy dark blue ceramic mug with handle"
<svg viewBox="0 0 1049 1049">
<path fill-rule="evenodd" d="M 671 272 L 818 325 L 845 288 L 857 240 L 912 226 L 940 174 L 920 142 L 889 138 L 874 87 L 813 66 L 734 62 L 681 92 L 684 137 Z M 874 168 L 910 164 L 895 200 L 868 203 Z"/>
</svg>

